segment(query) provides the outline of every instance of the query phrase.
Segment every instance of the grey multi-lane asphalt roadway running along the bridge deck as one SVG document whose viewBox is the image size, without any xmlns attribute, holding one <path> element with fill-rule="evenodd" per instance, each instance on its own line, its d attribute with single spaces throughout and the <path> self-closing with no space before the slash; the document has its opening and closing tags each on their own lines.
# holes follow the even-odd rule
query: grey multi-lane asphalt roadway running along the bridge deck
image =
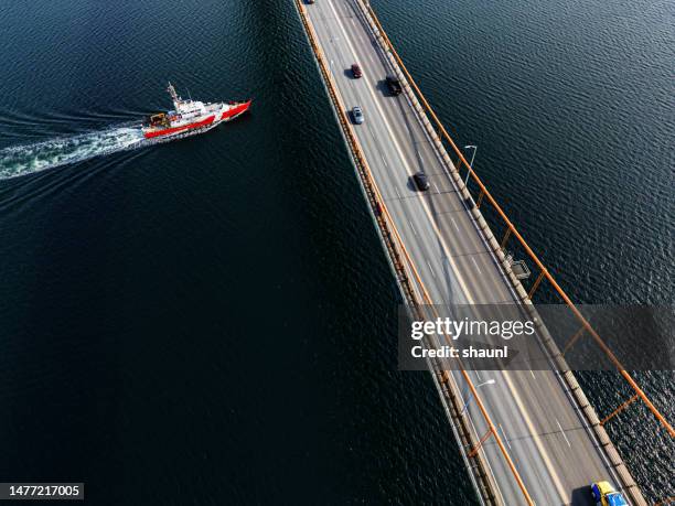
<svg viewBox="0 0 675 506">
<path fill-rule="evenodd" d="M 304 9 L 345 107 L 358 105 L 364 111 L 365 122 L 352 128 L 433 302 L 517 303 L 409 99 L 387 95 L 384 79 L 392 68 L 355 0 L 317 0 Z M 361 79 L 350 72 L 355 62 L 363 69 Z M 429 176 L 428 192 L 415 191 L 410 182 L 419 170 Z M 469 375 L 474 385 L 483 385 L 478 392 L 536 504 L 591 504 L 590 482 L 619 485 L 558 373 Z M 478 440 L 486 422 L 460 373 L 452 377 L 469 401 Z M 525 504 L 494 439 L 482 451 L 503 503 Z"/>
</svg>

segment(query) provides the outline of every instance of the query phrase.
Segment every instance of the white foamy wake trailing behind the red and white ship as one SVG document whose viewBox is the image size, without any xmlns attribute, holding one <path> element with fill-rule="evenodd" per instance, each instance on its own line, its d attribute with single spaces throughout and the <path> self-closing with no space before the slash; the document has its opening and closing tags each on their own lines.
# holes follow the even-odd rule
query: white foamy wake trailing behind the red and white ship
<svg viewBox="0 0 675 506">
<path fill-rule="evenodd" d="M 33 144 L 12 146 L 0 149 L 0 180 L 82 162 L 149 143 L 138 127 L 115 127 Z"/>
</svg>

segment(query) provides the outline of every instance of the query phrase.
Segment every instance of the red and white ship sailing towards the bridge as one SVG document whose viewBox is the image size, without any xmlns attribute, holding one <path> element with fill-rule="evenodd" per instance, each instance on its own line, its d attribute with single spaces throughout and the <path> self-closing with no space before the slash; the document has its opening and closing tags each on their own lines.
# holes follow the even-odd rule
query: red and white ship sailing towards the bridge
<svg viewBox="0 0 675 506">
<path fill-rule="evenodd" d="M 158 112 L 148 118 L 142 131 L 146 139 L 186 137 L 202 133 L 243 115 L 250 107 L 250 100 L 203 103 L 183 100 L 171 83 L 167 88 L 173 100 L 173 110 Z"/>
</svg>

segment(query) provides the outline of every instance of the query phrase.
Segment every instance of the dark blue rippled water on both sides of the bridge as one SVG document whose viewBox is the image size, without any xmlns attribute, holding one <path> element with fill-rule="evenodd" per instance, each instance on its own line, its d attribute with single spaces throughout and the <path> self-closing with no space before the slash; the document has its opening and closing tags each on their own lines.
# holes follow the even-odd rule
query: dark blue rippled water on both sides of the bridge
<svg viewBox="0 0 675 506">
<path fill-rule="evenodd" d="M 673 300 L 672 4 L 375 7 L 576 300 Z M 428 375 L 396 372 L 396 287 L 291 2 L 7 2 L 0 41 L 1 481 L 473 500 Z M 168 79 L 253 111 L 139 147 Z M 639 379 L 672 420 L 672 376 Z M 609 429 L 675 495 L 641 410 Z"/>
</svg>

